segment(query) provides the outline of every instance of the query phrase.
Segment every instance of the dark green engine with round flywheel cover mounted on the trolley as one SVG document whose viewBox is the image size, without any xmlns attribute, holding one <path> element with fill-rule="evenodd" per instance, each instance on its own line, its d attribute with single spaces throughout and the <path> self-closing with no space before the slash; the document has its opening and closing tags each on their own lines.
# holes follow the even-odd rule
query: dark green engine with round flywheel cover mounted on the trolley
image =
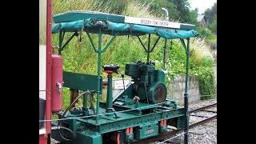
<svg viewBox="0 0 256 144">
<path fill-rule="evenodd" d="M 134 93 L 131 98 L 138 95 L 140 102 L 148 104 L 160 103 L 166 100 L 167 91 L 163 83 L 165 74 L 162 70 L 155 70 L 154 63 L 126 63 L 125 74 L 133 78 L 134 81 Z"/>
</svg>

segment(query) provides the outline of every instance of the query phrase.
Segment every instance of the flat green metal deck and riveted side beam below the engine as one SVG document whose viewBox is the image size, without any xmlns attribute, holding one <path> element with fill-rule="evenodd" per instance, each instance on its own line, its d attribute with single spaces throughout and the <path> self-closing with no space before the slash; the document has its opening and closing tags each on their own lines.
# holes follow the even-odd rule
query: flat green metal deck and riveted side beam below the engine
<svg viewBox="0 0 256 144">
<path fill-rule="evenodd" d="M 148 122 L 159 122 L 165 119 L 179 118 L 184 115 L 182 110 L 183 108 L 167 109 L 162 108 L 162 106 L 158 106 L 154 113 L 149 114 L 137 115 L 117 112 L 116 114 L 118 115 L 118 118 L 114 118 L 114 114 L 111 114 L 112 118 L 109 116 L 102 116 L 102 118 L 98 120 L 98 123 L 95 122 L 94 118 L 77 118 L 77 121 L 79 122 L 77 123 L 77 127 L 79 127 L 79 130 L 89 130 L 94 133 L 98 132 L 100 134 L 105 134 L 129 127 L 142 126 Z M 106 110 L 100 107 L 99 111 L 101 114 L 104 114 Z M 74 116 L 79 117 L 82 116 L 82 114 L 67 114 L 66 118 L 72 118 Z"/>
</svg>

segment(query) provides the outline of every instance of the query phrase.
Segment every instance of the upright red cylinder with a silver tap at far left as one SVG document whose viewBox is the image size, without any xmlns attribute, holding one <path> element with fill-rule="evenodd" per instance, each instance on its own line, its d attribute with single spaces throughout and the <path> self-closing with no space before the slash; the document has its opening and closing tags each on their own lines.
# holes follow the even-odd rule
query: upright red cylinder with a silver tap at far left
<svg viewBox="0 0 256 144">
<path fill-rule="evenodd" d="M 63 69 L 62 56 L 52 54 L 51 68 L 51 112 L 62 110 Z"/>
</svg>

